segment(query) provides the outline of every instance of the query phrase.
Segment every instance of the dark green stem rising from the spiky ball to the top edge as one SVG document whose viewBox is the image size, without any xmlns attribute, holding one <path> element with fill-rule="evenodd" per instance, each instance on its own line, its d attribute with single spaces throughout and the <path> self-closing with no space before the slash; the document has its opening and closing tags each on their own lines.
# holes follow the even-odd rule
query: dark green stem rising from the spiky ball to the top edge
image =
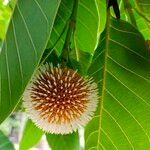
<svg viewBox="0 0 150 150">
<path fill-rule="evenodd" d="M 69 60 L 70 43 L 71 43 L 72 34 L 75 31 L 78 3 L 79 3 L 79 0 L 74 0 L 72 14 L 69 19 L 69 26 L 68 26 L 66 39 L 65 39 L 65 44 L 64 44 L 62 54 L 61 54 L 62 66 L 66 66 Z"/>
</svg>

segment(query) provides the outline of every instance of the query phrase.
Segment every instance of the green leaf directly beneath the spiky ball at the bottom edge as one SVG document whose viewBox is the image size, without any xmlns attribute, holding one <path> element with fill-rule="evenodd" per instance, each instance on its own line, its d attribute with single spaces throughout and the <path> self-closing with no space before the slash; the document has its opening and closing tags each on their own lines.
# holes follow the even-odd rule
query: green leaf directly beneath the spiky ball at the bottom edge
<svg viewBox="0 0 150 150">
<path fill-rule="evenodd" d="M 78 133 L 68 135 L 47 134 L 47 141 L 52 150 L 79 150 Z"/>
</svg>

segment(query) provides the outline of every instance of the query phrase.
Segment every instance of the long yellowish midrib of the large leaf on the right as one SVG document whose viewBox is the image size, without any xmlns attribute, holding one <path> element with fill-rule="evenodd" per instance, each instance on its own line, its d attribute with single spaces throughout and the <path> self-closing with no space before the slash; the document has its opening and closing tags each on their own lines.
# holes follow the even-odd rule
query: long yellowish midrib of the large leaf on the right
<svg viewBox="0 0 150 150">
<path fill-rule="evenodd" d="M 107 11 L 107 20 L 106 20 L 106 47 L 105 47 L 105 55 L 104 55 L 104 69 L 103 69 L 103 81 L 102 81 L 102 96 L 100 103 L 100 119 L 99 119 L 99 129 L 98 129 L 98 149 L 100 149 L 100 138 L 101 138 L 101 126 L 102 126 L 102 113 L 103 113 L 103 103 L 105 96 L 105 84 L 106 84 L 106 71 L 107 71 L 107 59 L 108 59 L 108 49 L 109 49 L 109 30 L 110 30 L 110 9 Z"/>
</svg>

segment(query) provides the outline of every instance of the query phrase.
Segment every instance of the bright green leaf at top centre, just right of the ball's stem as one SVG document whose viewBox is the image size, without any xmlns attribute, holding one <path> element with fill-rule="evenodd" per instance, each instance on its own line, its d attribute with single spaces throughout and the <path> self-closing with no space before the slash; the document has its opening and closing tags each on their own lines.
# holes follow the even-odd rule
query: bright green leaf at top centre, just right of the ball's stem
<svg viewBox="0 0 150 150">
<path fill-rule="evenodd" d="M 93 53 L 97 44 L 99 16 L 96 1 L 80 0 L 75 31 L 75 48 Z"/>
</svg>

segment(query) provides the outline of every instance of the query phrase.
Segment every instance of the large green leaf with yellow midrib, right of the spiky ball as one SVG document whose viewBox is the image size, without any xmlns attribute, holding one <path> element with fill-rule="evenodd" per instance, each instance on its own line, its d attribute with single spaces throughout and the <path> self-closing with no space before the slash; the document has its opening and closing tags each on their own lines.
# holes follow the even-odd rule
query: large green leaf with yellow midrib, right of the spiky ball
<svg viewBox="0 0 150 150">
<path fill-rule="evenodd" d="M 150 149 L 149 68 L 139 31 L 108 18 L 88 71 L 98 83 L 100 101 L 85 129 L 85 150 Z"/>
</svg>

